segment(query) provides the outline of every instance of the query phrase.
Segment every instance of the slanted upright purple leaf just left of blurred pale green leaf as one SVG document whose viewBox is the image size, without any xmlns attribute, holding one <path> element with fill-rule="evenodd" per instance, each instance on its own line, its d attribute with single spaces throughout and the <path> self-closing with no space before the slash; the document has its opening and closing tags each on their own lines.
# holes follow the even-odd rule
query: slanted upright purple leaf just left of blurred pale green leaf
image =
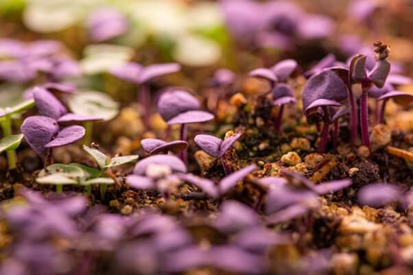
<svg viewBox="0 0 413 275">
<path fill-rule="evenodd" d="M 36 108 L 40 115 L 59 119 L 67 110 L 54 95 L 45 88 L 35 87 L 33 89 L 33 97 L 36 102 Z"/>
</svg>

